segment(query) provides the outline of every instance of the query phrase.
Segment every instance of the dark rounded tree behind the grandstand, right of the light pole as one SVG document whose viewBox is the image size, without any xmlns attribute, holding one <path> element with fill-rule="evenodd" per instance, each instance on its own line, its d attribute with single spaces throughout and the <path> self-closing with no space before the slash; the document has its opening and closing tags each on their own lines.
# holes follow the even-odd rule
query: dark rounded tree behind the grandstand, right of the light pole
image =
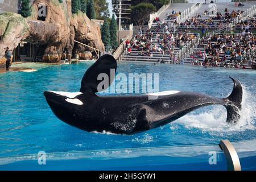
<svg viewBox="0 0 256 182">
<path fill-rule="evenodd" d="M 145 25 L 149 21 L 149 15 L 156 10 L 152 3 L 139 3 L 131 6 L 131 17 L 136 25 Z"/>
</svg>

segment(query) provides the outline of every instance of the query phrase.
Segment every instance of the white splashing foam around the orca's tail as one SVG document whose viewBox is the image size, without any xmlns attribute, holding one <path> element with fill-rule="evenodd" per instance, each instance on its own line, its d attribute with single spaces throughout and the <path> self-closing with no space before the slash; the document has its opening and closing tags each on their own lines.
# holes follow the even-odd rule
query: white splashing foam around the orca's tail
<svg viewBox="0 0 256 182">
<path fill-rule="evenodd" d="M 200 129 L 210 132 L 229 133 L 231 131 L 256 130 L 255 127 L 255 100 L 246 88 L 243 86 L 241 118 L 236 124 L 226 123 L 226 109 L 224 106 L 216 105 L 214 109 L 200 114 L 187 114 L 181 117 L 177 122 L 188 129 Z"/>
</svg>

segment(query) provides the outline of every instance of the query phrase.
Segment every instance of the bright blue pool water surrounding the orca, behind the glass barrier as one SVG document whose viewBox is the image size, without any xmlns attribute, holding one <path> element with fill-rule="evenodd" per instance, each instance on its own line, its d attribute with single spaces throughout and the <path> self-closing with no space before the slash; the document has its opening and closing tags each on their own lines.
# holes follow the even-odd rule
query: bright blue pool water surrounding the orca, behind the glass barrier
<svg viewBox="0 0 256 182">
<path fill-rule="evenodd" d="M 118 63 L 118 73 L 159 73 L 159 90 L 186 90 L 226 97 L 232 76 L 244 89 L 242 117 L 228 125 L 223 106 L 208 106 L 166 126 L 135 135 L 88 133 L 53 115 L 43 96 L 45 90 L 77 92 L 92 61 L 79 64 L 20 66 L 35 72 L 0 74 L 0 156 L 113 148 L 218 144 L 256 138 L 256 72 L 169 64 Z M 124 103 L 125 104 L 125 103 Z"/>
</svg>

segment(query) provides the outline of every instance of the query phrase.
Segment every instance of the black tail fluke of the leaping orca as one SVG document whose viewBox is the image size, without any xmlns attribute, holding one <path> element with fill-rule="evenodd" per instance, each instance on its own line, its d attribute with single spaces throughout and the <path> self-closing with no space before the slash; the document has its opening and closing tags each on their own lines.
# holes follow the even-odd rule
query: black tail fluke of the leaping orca
<svg viewBox="0 0 256 182">
<path fill-rule="evenodd" d="M 240 119 L 240 110 L 242 108 L 242 97 L 243 97 L 243 90 L 241 83 L 236 80 L 235 78 L 230 77 L 233 82 L 233 90 L 229 97 L 224 98 L 225 107 L 227 110 L 227 119 L 226 122 L 228 123 L 236 123 Z"/>
</svg>

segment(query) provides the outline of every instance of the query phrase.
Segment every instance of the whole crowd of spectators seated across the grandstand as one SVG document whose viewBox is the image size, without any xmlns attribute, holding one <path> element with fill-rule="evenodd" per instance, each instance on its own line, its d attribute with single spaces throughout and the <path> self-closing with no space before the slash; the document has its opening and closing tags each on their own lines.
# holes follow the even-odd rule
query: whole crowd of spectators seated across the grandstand
<svg viewBox="0 0 256 182">
<path fill-rule="evenodd" d="M 239 5 L 239 6 L 242 6 Z M 217 12 L 214 16 L 210 15 L 208 10 L 204 11 L 205 18 L 200 14 L 196 14 L 195 17 L 185 20 L 180 24 L 180 27 L 202 29 L 207 27 L 213 27 L 214 29 L 221 28 L 222 25 L 232 22 L 234 18 L 237 18 L 243 13 L 243 10 L 231 11 L 224 10 L 225 13 L 221 14 Z M 130 54 L 133 49 L 139 56 L 151 56 L 154 54 L 170 55 L 169 63 L 180 64 L 175 54 L 175 50 L 181 49 L 185 44 L 192 40 L 195 35 L 184 32 L 174 33 L 174 23 L 176 23 L 176 17 L 181 12 L 172 11 L 171 14 L 166 13 L 166 19 L 172 19 L 174 21 L 167 22 L 166 20 L 160 20 L 156 17 L 154 22 L 157 23 L 155 28 L 147 28 L 146 31 L 143 27 L 139 28 L 138 34 L 132 39 L 126 41 L 126 49 Z M 228 67 L 229 63 L 232 63 L 236 68 L 245 68 L 243 63 L 247 61 L 247 64 L 255 64 L 253 59 L 250 59 L 248 55 L 255 52 L 256 36 L 251 33 L 251 30 L 256 27 L 255 18 L 247 19 L 243 22 L 236 24 L 237 29 L 241 30 L 240 34 L 215 34 L 207 35 L 201 39 L 199 51 L 193 52 L 191 55 L 193 65 L 212 66 L 212 67 Z M 161 59 L 158 59 L 158 63 L 164 63 Z"/>
</svg>

